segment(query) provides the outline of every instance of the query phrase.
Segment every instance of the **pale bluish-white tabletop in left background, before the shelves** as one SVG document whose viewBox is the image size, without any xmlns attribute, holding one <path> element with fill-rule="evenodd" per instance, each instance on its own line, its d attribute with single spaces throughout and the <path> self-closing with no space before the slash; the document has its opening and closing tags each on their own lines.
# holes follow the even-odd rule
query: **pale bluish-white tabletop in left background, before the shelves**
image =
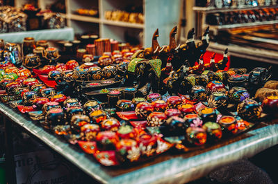
<svg viewBox="0 0 278 184">
<path fill-rule="evenodd" d="M 24 37 L 30 37 L 35 40 L 74 40 L 74 29 L 73 28 L 62 28 L 62 29 L 46 29 L 46 30 L 29 30 L 16 33 L 1 33 L 0 39 L 4 39 L 5 42 L 11 43 L 22 43 Z"/>
</svg>

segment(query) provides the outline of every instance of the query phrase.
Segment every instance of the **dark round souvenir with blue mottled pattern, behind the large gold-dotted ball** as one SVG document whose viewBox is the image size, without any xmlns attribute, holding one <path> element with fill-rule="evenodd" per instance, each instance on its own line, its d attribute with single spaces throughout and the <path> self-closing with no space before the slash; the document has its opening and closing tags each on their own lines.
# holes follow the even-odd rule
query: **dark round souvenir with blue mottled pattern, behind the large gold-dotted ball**
<svg viewBox="0 0 278 184">
<path fill-rule="evenodd" d="M 233 87 L 228 92 L 229 102 L 232 104 L 238 104 L 243 100 L 250 98 L 250 94 L 243 87 Z"/>
</svg>

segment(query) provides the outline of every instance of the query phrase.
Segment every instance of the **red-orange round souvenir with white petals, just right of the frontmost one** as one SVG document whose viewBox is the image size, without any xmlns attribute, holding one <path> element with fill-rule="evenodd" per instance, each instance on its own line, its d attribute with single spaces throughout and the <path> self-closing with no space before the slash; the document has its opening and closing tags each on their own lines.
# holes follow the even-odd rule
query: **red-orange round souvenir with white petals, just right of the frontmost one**
<svg viewBox="0 0 278 184">
<path fill-rule="evenodd" d="M 142 134 L 137 139 L 142 156 L 153 156 L 158 147 L 157 138 L 149 134 Z"/>
</svg>

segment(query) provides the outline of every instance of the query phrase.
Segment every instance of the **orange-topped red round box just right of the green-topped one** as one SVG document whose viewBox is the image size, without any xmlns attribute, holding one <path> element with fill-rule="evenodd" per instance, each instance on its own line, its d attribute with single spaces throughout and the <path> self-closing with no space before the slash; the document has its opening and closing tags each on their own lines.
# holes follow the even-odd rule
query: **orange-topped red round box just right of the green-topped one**
<svg viewBox="0 0 278 184">
<path fill-rule="evenodd" d="M 226 133 L 236 134 L 238 131 L 236 118 L 233 116 L 222 116 L 218 123 L 221 125 L 222 129 Z"/>
</svg>

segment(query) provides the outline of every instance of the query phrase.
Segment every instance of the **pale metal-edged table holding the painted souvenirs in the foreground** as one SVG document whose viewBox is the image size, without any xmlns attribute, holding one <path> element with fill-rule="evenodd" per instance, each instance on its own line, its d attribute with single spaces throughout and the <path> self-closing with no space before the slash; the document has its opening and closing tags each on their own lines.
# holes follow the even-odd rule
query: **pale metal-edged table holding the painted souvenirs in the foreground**
<svg viewBox="0 0 278 184">
<path fill-rule="evenodd" d="M 0 103 L 0 113 L 10 124 L 38 138 L 45 145 L 101 183 L 186 183 L 240 158 L 249 158 L 278 143 L 278 125 L 261 123 L 255 129 L 199 151 L 183 154 L 165 152 L 145 163 L 129 167 L 104 167 L 81 149 L 45 131 L 16 109 Z M 7 133 L 7 132 L 6 132 Z M 7 136 L 9 140 L 11 137 Z M 10 150 L 8 150 L 10 151 Z"/>
</svg>

